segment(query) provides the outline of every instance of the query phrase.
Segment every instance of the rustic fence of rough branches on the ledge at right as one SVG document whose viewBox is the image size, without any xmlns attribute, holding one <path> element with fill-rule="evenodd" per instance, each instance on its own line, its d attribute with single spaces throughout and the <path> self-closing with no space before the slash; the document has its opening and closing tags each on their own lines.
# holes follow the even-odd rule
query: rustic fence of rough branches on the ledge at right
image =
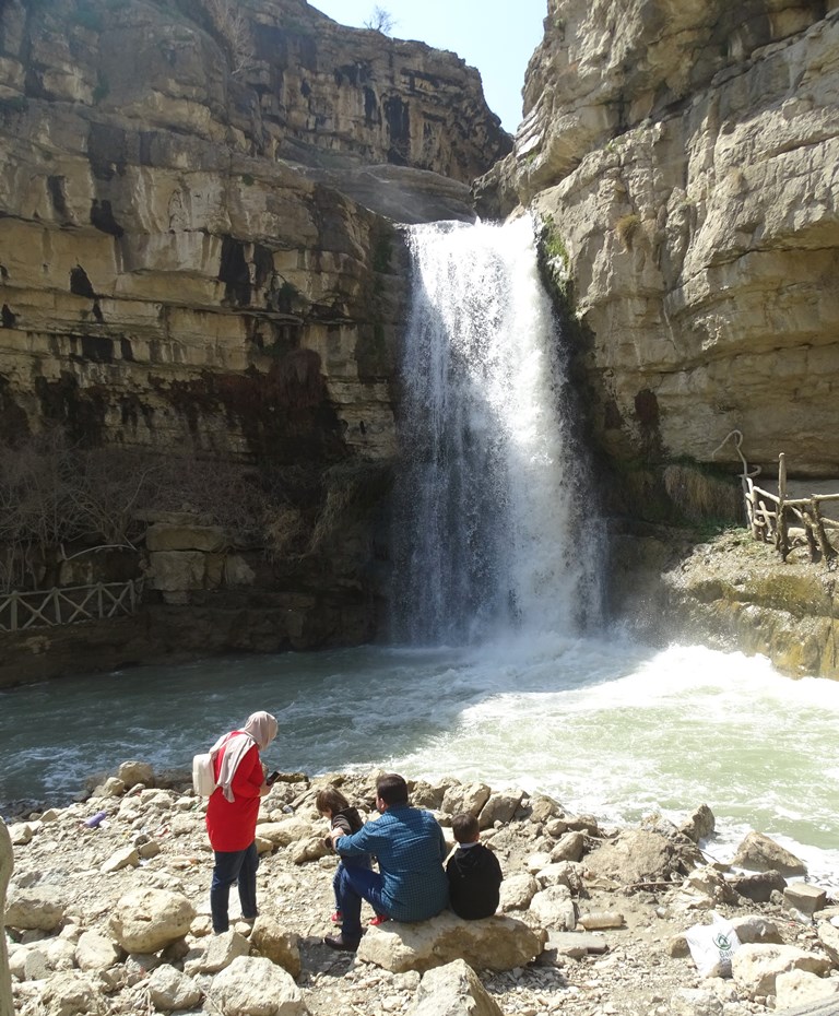
<svg viewBox="0 0 839 1016">
<path fill-rule="evenodd" d="M 839 494 L 789 497 L 783 452 L 778 457 L 777 494 L 756 486 L 747 470 L 744 470 L 741 479 L 746 499 L 746 518 L 755 540 L 773 544 L 783 560 L 795 547 L 806 546 L 812 562 L 836 567 L 839 522 L 826 519 L 822 506 L 839 501 Z"/>
</svg>

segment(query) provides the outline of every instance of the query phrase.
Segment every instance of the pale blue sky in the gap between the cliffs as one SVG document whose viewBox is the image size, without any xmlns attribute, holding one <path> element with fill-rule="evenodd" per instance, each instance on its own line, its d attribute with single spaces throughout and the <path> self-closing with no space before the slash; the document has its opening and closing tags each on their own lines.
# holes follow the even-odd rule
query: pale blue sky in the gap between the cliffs
<svg viewBox="0 0 839 1016">
<path fill-rule="evenodd" d="M 451 49 L 481 71 L 484 95 L 511 134 L 521 121 L 524 70 L 542 40 L 547 0 L 309 0 L 343 25 L 363 27 L 380 7 L 393 38 Z"/>
</svg>

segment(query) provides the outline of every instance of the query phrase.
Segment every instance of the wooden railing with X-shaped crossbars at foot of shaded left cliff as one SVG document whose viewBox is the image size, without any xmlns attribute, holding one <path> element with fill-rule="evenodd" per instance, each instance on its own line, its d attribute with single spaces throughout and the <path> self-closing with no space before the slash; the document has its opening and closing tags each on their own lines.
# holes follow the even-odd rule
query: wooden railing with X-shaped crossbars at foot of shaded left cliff
<svg viewBox="0 0 839 1016">
<path fill-rule="evenodd" d="M 142 593 L 142 579 L 5 593 L 0 598 L 0 631 L 131 615 Z"/>
</svg>

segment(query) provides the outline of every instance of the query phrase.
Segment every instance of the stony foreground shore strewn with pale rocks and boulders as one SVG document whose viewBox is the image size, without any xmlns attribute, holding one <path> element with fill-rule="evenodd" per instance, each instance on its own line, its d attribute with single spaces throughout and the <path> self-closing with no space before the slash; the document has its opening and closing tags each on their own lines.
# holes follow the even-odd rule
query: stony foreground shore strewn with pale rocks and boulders
<svg viewBox="0 0 839 1016">
<path fill-rule="evenodd" d="M 412 802 L 435 812 L 447 839 L 453 813 L 478 816 L 505 873 L 499 912 L 389 922 L 368 929 L 357 955 L 331 952 L 335 858 L 314 799 L 334 782 L 373 817 L 375 777 L 283 776 L 257 828 L 260 915 L 224 935 L 210 925 L 205 802 L 186 773 L 125 763 L 87 800 L 21 816 L 8 826 L 14 1013 L 839 1013 L 839 901 L 759 830 L 732 864 L 713 860 L 707 805 L 682 828 L 650 816 L 606 829 L 543 795 L 411 782 Z M 237 906 L 234 891 L 232 915 Z M 686 937 L 714 915 L 741 943 L 728 977 L 702 976 Z"/>
</svg>

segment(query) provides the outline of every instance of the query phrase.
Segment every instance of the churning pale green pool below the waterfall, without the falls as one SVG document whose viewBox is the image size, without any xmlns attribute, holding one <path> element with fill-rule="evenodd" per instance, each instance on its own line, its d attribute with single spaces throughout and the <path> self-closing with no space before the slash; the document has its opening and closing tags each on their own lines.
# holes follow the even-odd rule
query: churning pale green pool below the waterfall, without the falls
<svg viewBox="0 0 839 1016">
<path fill-rule="evenodd" d="M 701 803 L 709 849 L 749 829 L 839 872 L 839 683 L 793 682 L 763 658 L 619 639 L 532 637 L 482 650 L 211 660 L 71 678 L 0 695 L 0 801 L 64 803 L 128 758 L 191 756 L 257 709 L 272 767 L 388 768 L 544 791 L 605 823 Z"/>
</svg>

